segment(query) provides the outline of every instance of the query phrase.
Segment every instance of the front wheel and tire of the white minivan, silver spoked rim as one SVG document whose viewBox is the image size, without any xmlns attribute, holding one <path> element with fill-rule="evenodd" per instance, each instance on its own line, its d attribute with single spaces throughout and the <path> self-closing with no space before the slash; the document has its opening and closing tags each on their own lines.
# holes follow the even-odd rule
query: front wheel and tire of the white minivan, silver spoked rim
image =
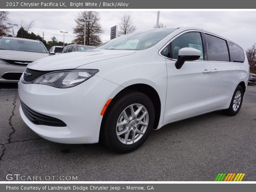
<svg viewBox="0 0 256 192">
<path fill-rule="evenodd" d="M 114 152 L 131 152 L 146 141 L 154 126 L 154 118 L 154 105 L 148 96 L 138 91 L 126 91 L 108 106 L 102 121 L 101 138 Z M 123 125 L 118 126 L 120 122 Z"/>
</svg>

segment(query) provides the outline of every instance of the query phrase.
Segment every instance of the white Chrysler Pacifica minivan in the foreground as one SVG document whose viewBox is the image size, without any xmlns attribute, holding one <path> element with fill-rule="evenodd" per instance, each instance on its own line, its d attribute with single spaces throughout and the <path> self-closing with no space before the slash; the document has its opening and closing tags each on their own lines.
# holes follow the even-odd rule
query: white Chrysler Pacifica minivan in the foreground
<svg viewBox="0 0 256 192">
<path fill-rule="evenodd" d="M 101 138 L 130 152 L 166 124 L 216 110 L 236 115 L 248 77 L 235 42 L 201 28 L 146 30 L 28 65 L 18 85 L 20 115 L 47 140 Z"/>
</svg>

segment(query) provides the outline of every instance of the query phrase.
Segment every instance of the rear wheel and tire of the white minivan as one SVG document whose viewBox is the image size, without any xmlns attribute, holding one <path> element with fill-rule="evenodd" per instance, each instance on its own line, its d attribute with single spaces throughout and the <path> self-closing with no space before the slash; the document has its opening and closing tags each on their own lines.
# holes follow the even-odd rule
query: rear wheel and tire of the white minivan
<svg viewBox="0 0 256 192">
<path fill-rule="evenodd" d="M 240 100 L 239 100 L 239 98 L 240 98 Z M 229 106 L 228 109 L 224 110 L 224 113 L 226 115 L 229 115 L 229 116 L 236 115 L 239 112 L 239 110 L 242 106 L 243 98 L 244 98 L 244 90 L 240 85 L 238 85 L 236 87 L 236 90 L 235 90 L 233 96 L 232 96 L 230 106 Z M 239 106 L 238 106 L 237 104 L 238 104 L 239 101 L 240 101 L 240 103 L 239 103 Z"/>
</svg>

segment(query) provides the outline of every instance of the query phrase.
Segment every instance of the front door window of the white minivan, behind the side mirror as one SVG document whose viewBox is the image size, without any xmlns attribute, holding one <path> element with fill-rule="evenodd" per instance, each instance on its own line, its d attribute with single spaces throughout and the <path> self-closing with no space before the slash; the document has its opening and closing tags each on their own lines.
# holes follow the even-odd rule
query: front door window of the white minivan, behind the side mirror
<svg viewBox="0 0 256 192">
<path fill-rule="evenodd" d="M 171 43 L 171 58 L 178 59 L 179 50 L 190 47 L 201 51 L 198 60 L 204 60 L 203 43 L 200 32 L 188 32 L 174 39 Z"/>
</svg>

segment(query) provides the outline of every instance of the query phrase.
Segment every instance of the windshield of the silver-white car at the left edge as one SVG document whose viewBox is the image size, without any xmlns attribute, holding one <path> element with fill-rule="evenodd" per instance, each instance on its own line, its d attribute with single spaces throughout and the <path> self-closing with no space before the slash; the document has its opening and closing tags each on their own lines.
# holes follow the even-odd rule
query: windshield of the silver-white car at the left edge
<svg viewBox="0 0 256 192">
<path fill-rule="evenodd" d="M 36 53 L 47 53 L 43 44 L 38 42 L 17 40 L 17 39 L 0 39 L 0 49 L 14 50 L 14 51 L 27 51 Z"/>
</svg>

